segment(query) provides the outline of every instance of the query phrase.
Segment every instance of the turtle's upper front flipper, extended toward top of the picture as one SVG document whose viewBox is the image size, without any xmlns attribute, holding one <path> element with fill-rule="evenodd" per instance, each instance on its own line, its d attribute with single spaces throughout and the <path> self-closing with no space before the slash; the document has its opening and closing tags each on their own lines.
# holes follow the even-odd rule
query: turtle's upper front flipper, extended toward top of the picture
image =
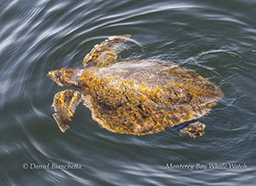
<svg viewBox="0 0 256 186">
<path fill-rule="evenodd" d="M 131 35 L 109 37 L 100 45 L 95 45 L 93 50 L 84 58 L 84 67 L 104 66 L 113 63 L 117 58 L 117 54 L 123 50 L 121 45 L 126 43 L 130 37 Z"/>
</svg>

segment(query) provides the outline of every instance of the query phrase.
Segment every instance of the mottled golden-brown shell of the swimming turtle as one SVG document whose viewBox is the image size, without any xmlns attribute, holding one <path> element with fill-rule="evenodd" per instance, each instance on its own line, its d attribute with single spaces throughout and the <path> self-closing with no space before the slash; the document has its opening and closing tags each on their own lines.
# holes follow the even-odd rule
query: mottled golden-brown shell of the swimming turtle
<svg viewBox="0 0 256 186">
<path fill-rule="evenodd" d="M 94 120 L 112 132 L 154 134 L 200 118 L 222 96 L 209 80 L 194 71 L 168 66 L 169 62 L 124 63 L 128 63 L 126 68 L 120 62 L 118 69 L 113 65 L 98 71 L 88 69 L 80 78 L 86 82 L 80 86 L 89 97 Z M 146 66 L 143 71 L 132 67 L 140 63 L 151 63 L 152 71 Z"/>
</svg>

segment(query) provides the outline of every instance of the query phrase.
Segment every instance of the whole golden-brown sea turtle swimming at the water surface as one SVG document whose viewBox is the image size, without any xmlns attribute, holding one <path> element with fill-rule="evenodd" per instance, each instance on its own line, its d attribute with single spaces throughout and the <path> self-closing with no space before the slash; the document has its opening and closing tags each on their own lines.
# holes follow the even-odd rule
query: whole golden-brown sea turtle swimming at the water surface
<svg viewBox="0 0 256 186">
<path fill-rule="evenodd" d="M 123 134 L 155 134 L 182 123 L 182 133 L 197 137 L 205 125 L 197 121 L 209 113 L 222 91 L 197 72 L 160 59 L 117 60 L 130 35 L 114 36 L 95 45 L 83 59 L 84 69 L 48 72 L 59 86 L 52 114 L 62 132 L 70 127 L 83 102 L 100 127 Z"/>
</svg>

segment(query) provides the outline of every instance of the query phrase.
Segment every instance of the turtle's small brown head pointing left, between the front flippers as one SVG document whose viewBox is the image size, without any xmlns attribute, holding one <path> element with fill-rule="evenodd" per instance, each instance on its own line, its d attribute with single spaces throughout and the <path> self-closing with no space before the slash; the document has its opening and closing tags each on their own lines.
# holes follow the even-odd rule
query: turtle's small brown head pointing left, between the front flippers
<svg viewBox="0 0 256 186">
<path fill-rule="evenodd" d="M 79 68 L 62 68 L 48 72 L 47 76 L 59 86 L 78 86 L 83 72 L 84 70 Z"/>
</svg>

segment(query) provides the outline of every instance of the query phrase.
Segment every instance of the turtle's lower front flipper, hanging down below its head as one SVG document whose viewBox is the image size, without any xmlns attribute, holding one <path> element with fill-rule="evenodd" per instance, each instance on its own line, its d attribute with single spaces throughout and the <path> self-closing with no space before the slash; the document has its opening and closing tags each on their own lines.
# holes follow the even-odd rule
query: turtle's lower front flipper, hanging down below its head
<svg viewBox="0 0 256 186">
<path fill-rule="evenodd" d="M 55 94 L 52 103 L 55 113 L 52 116 L 63 133 L 70 127 L 74 111 L 80 102 L 81 93 L 78 90 L 66 89 Z"/>
</svg>

